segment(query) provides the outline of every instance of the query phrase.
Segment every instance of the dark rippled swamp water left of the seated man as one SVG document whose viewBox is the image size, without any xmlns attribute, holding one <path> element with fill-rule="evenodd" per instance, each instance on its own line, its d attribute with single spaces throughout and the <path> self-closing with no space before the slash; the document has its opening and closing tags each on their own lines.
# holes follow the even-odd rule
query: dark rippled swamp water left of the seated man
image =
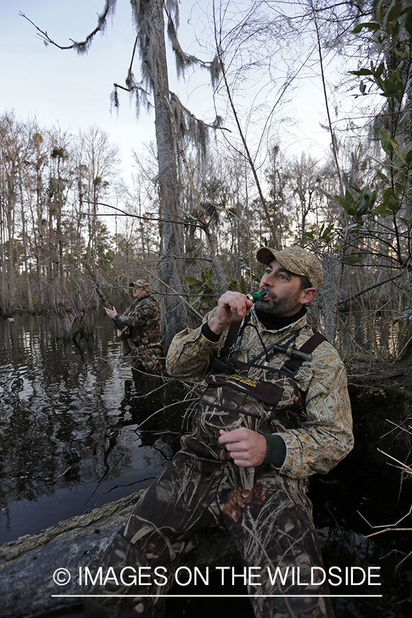
<svg viewBox="0 0 412 618">
<path fill-rule="evenodd" d="M 0 321 L 0 542 L 148 486 L 179 447 L 174 382 L 132 379 L 105 317 L 87 330 Z"/>
</svg>

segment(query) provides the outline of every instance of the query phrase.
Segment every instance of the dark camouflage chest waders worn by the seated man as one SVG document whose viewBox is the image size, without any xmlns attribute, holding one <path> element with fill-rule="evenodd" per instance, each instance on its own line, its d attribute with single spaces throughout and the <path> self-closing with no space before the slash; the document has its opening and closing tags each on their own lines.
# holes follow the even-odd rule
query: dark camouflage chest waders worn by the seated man
<svg viewBox="0 0 412 618">
<path fill-rule="evenodd" d="M 299 427 L 304 395 L 283 371 L 243 363 L 236 363 L 236 371 L 207 378 L 194 435 L 183 437 L 182 450 L 138 501 L 100 563 L 104 572 L 111 567 L 118 581 L 124 567 L 150 567 L 151 584 L 94 586 L 89 594 L 136 596 L 90 597 L 88 616 L 155 616 L 159 599 L 139 595 L 166 593 L 179 558 L 207 536 L 208 528 L 217 527 L 231 536 L 245 566 L 261 569 L 255 573 L 262 585 L 249 586 L 257 618 L 332 617 L 327 598 L 308 596 L 326 594 L 327 587 L 302 585 L 310 582 L 310 567 L 322 567 L 306 480 L 286 477 L 273 466 L 238 467 L 218 444 L 220 428 L 275 433 Z M 156 567 L 167 569 L 168 585 L 161 585 Z M 268 569 L 274 575 L 277 567 L 282 577 L 289 569 L 289 576 L 271 583 Z M 223 595 L 228 592 L 222 588 Z"/>
</svg>

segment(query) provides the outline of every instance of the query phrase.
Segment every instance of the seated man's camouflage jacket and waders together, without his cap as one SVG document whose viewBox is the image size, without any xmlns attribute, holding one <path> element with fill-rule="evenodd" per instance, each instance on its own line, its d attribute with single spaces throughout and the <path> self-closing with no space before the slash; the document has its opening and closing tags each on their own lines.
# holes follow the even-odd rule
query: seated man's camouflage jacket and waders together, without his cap
<svg viewBox="0 0 412 618">
<path fill-rule="evenodd" d="M 205 317 L 207 321 L 211 315 Z M 353 444 L 350 402 L 345 369 L 336 350 L 321 343 L 294 379 L 281 369 L 286 354 L 269 359 L 268 366 L 244 367 L 265 347 L 292 336 L 296 347 L 312 336 L 306 318 L 273 332 L 265 330 L 250 313 L 248 326 L 235 343 L 238 373 L 213 374 L 205 382 L 192 436 L 183 437 L 183 448 L 172 464 L 137 503 L 121 531 L 106 550 L 104 569 L 119 574 L 126 566 L 165 567 L 168 584 L 182 556 L 207 535 L 209 527 L 224 529 L 238 546 L 247 567 L 260 567 L 283 575 L 300 571 L 300 582 L 310 582 L 310 567 L 322 567 L 321 553 L 306 495 L 306 478 L 325 473 L 345 457 Z M 224 343 L 212 343 L 201 328 L 185 330 L 174 338 L 167 358 L 172 376 L 203 380 Z M 252 363 L 253 365 L 253 363 Z M 251 397 L 251 391 L 258 397 Z M 251 404 L 251 399 L 255 403 Z M 235 466 L 217 437 L 221 426 L 247 424 L 266 433 L 278 432 L 286 443 L 282 468 Z M 308 579 L 309 577 L 309 579 Z M 159 598 L 168 586 L 155 579 L 148 586 L 96 584 L 85 603 L 89 617 L 139 618 L 155 616 Z M 249 586 L 256 618 L 331 618 L 325 586 L 298 585 L 291 577 L 262 586 Z M 223 592 L 225 593 L 225 592 Z M 113 595 L 135 595 L 115 597 Z M 273 595 L 262 597 L 260 595 Z M 297 595 L 280 597 L 274 595 Z"/>
</svg>

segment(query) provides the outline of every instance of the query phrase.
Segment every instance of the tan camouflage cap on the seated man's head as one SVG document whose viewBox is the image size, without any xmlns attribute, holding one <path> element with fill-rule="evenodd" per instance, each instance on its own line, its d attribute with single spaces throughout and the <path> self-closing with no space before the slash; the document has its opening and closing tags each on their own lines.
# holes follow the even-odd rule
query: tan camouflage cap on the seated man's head
<svg viewBox="0 0 412 618">
<path fill-rule="evenodd" d="M 287 247 L 281 251 L 262 247 L 256 253 L 256 258 L 262 264 L 270 264 L 277 260 L 286 270 L 294 275 L 304 275 L 308 277 L 310 285 L 319 288 L 323 281 L 323 268 L 321 262 L 315 257 L 314 253 L 306 251 L 301 247 Z"/>
</svg>

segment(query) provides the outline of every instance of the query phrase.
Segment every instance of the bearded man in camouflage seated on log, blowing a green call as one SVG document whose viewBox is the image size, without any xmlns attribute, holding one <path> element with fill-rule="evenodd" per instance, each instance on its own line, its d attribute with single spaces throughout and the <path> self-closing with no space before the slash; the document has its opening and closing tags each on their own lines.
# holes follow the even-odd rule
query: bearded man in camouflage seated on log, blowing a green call
<svg viewBox="0 0 412 618">
<path fill-rule="evenodd" d="M 264 248 L 258 259 L 267 264 L 262 300 L 252 307 L 244 295 L 227 292 L 203 325 L 172 341 L 169 373 L 205 380 L 194 431 L 102 559 L 117 574 L 125 566 L 164 567 L 168 585 L 156 577 L 146 586 L 96 585 L 89 593 L 104 596 L 87 599 L 90 617 L 155 616 L 182 557 L 210 527 L 227 531 L 244 565 L 262 573 L 299 568 L 300 582 L 310 582 L 311 567 L 322 567 L 306 484 L 353 446 L 345 369 L 324 338 L 311 358 L 294 361 L 296 350 L 316 338 L 305 314 L 321 284 L 320 262 L 300 247 Z M 230 365 L 210 373 L 232 322 L 240 328 Z M 275 343 L 283 351 L 274 352 Z M 333 616 L 326 585 L 301 586 L 290 577 L 260 583 L 249 586 L 257 618 Z"/>
</svg>

